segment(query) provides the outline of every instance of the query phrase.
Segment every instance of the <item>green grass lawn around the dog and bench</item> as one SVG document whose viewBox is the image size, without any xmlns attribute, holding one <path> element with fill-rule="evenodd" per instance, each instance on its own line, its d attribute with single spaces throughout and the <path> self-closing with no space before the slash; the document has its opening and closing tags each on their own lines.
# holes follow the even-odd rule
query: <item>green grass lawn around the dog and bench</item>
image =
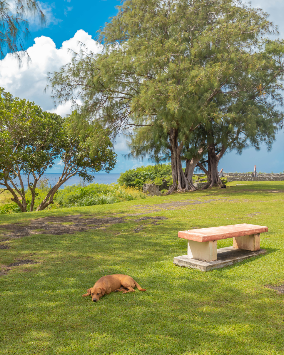
<svg viewBox="0 0 284 355">
<path fill-rule="evenodd" d="M 7 241 L 9 226 L 0 230 L 1 245 L 10 247 L 0 250 L 2 271 L 17 260 L 37 262 L 0 276 L 0 354 L 284 354 L 284 294 L 265 287 L 284 283 L 284 185 L 236 184 L 0 215 L 2 225 L 18 226 L 76 214 L 125 220 Z M 139 220 L 145 216 L 166 219 Z M 187 250 L 179 230 L 237 223 L 268 226 L 261 235 L 264 256 L 206 273 L 173 264 Z M 218 248 L 232 243 L 218 241 Z M 130 275 L 147 291 L 111 293 L 99 302 L 82 298 L 96 280 L 115 273 Z"/>
</svg>

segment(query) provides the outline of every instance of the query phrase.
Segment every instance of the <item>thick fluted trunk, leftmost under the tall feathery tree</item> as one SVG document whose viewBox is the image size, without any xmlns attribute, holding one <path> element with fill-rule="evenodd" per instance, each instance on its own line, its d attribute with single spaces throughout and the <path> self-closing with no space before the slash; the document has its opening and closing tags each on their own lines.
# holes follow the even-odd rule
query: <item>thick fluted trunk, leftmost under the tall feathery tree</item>
<svg viewBox="0 0 284 355">
<path fill-rule="evenodd" d="M 171 173 L 173 176 L 173 185 L 170 187 L 166 195 L 169 195 L 175 191 L 177 187 L 178 192 L 194 191 L 189 185 L 187 178 L 185 177 L 184 170 L 181 165 L 180 153 L 183 147 L 183 143 L 178 144 L 178 129 L 170 129 L 170 151 L 171 151 Z"/>
</svg>

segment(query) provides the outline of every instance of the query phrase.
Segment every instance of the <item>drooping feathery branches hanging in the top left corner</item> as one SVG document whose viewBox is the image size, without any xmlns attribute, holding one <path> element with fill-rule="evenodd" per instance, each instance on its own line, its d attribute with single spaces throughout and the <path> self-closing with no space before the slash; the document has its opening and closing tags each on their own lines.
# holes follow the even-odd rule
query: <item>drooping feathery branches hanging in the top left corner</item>
<svg viewBox="0 0 284 355">
<path fill-rule="evenodd" d="M 13 53 L 21 65 L 21 55 L 26 53 L 23 40 L 29 35 L 28 16 L 38 16 L 42 26 L 45 23 L 38 0 L 0 0 L 0 58 Z"/>
</svg>

